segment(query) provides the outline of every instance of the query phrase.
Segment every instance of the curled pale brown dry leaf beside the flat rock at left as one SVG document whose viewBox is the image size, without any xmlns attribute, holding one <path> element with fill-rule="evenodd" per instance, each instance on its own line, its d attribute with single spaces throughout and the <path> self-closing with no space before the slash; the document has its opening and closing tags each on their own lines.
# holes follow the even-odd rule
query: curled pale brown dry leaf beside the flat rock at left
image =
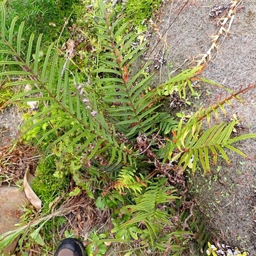
<svg viewBox="0 0 256 256">
<path fill-rule="evenodd" d="M 33 179 L 35 179 L 35 177 L 29 172 L 28 167 L 24 176 L 24 192 L 29 202 L 31 202 L 31 204 L 35 207 L 36 211 L 39 211 L 42 208 L 42 202 L 35 194 L 33 189 L 31 189 L 31 187 L 29 186 Z"/>
</svg>

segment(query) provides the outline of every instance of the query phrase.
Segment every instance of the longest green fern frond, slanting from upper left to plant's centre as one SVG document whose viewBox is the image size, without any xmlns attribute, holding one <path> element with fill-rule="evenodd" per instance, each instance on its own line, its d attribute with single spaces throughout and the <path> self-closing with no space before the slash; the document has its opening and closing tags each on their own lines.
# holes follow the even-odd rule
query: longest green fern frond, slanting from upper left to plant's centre
<svg viewBox="0 0 256 256">
<path fill-rule="evenodd" d="M 1 20 L 5 20 L 3 2 L 1 2 Z M 0 35 L 0 42 L 4 45 L 0 51 L 6 56 L 4 58 L 6 61 L 0 62 L 3 67 L 0 79 L 8 78 L 4 87 L 22 87 L 24 84 L 31 84 L 36 89 L 32 88 L 29 92 L 21 92 L 13 96 L 6 104 L 31 100 L 38 100 L 39 104 L 44 102 L 44 107 L 40 104 L 42 111 L 25 122 L 24 129 L 30 131 L 38 125 L 46 125 L 47 130 L 42 138 L 38 139 L 38 143 L 42 143 L 44 138 L 53 134 L 52 138 L 55 139 L 49 143 L 48 149 L 69 138 L 70 145 L 63 150 L 63 154 L 70 152 L 70 148 L 76 147 L 76 152 L 81 152 L 81 150 L 90 152 L 87 155 L 88 160 L 102 152 L 108 152 L 106 155 L 110 152 L 111 161 L 114 161 L 116 156 L 117 161 L 122 161 L 123 157 L 126 157 L 126 152 L 124 148 L 121 148 L 122 143 L 115 136 L 113 126 L 106 122 L 102 113 L 98 111 L 95 92 L 92 93 L 93 89 L 90 86 L 78 84 L 77 74 L 74 75 L 68 70 L 69 61 L 63 61 L 60 58 L 54 44 L 49 45 L 44 58 L 40 58 L 42 35 L 38 35 L 36 39 L 35 54 L 31 61 L 35 35 L 30 36 L 28 47 L 24 49 L 22 40 L 20 40 L 24 22 L 17 24 L 17 18 L 13 19 L 9 35 L 12 35 L 15 26 L 19 26 L 15 42 L 13 36 L 6 38 L 4 36 L 6 33 Z M 1 31 L 5 30 L 4 22 L 2 22 Z M 12 69 L 10 70 L 8 68 L 11 65 Z M 13 77 L 17 76 L 20 77 L 19 81 L 17 79 L 14 81 Z M 36 93 L 37 95 L 40 93 L 42 96 L 31 96 Z M 82 141 L 83 143 L 81 143 Z"/>
</svg>

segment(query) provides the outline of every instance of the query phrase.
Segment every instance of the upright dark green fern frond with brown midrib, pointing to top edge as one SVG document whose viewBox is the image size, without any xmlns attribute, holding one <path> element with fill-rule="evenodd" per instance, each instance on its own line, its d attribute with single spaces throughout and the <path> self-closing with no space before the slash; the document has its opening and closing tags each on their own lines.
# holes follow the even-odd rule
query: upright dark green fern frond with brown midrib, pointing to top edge
<svg viewBox="0 0 256 256">
<path fill-rule="evenodd" d="M 104 6 L 101 6 L 100 10 L 106 12 Z M 148 62 L 141 68 L 134 77 L 130 77 L 129 73 L 129 65 L 132 65 L 143 54 L 147 42 L 131 50 L 131 42 L 136 40 L 136 36 L 127 32 L 129 23 L 122 24 L 122 17 L 118 17 L 114 24 L 110 25 L 109 15 L 102 13 L 102 17 L 105 19 L 100 19 L 97 35 L 104 42 L 108 53 L 102 54 L 101 67 L 93 72 L 104 74 L 104 77 L 95 82 L 104 84 L 98 90 L 103 93 L 103 102 L 109 106 L 106 109 L 108 120 L 115 125 L 118 131 L 125 132 L 129 138 L 134 138 L 140 132 L 150 134 L 156 131 L 154 125 L 159 113 L 155 111 L 161 106 L 161 104 L 156 104 L 160 99 L 156 90 L 145 93 L 153 78 L 153 76 L 144 77 L 145 68 L 150 63 Z M 119 26 L 120 24 L 122 26 Z"/>
</svg>

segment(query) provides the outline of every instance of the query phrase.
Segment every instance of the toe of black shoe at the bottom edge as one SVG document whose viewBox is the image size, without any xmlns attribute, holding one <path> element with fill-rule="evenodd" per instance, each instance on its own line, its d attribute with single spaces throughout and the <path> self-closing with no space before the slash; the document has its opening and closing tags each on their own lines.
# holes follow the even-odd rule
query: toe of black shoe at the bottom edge
<svg viewBox="0 0 256 256">
<path fill-rule="evenodd" d="M 83 244 L 74 238 L 63 239 L 57 247 L 55 256 L 86 256 Z"/>
</svg>

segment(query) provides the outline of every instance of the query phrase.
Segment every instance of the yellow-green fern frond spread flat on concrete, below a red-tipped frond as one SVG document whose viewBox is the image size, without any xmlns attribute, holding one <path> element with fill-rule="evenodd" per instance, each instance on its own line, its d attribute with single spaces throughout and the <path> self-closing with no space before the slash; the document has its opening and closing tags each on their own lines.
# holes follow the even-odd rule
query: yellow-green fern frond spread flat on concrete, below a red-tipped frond
<svg viewBox="0 0 256 256">
<path fill-rule="evenodd" d="M 191 121 L 191 120 L 189 120 Z M 187 166 L 192 168 L 192 172 L 195 173 L 196 163 L 200 160 L 204 172 L 207 173 L 210 170 L 210 152 L 213 156 L 213 163 L 216 164 L 218 153 L 230 164 L 230 160 L 223 148 L 228 148 L 240 154 L 243 157 L 246 155 L 232 147 L 230 144 L 239 140 L 245 140 L 247 138 L 255 138 L 256 134 L 245 134 L 234 139 L 230 139 L 230 135 L 236 125 L 237 120 L 232 120 L 230 124 L 221 122 L 220 124 L 213 125 L 207 129 L 202 135 L 200 135 L 202 123 L 197 122 L 191 131 L 191 122 L 182 125 L 180 121 L 177 135 L 174 140 L 176 142 L 175 147 L 179 150 L 179 153 L 170 157 L 171 161 L 179 159 L 178 167 L 182 167 L 185 170 Z"/>
</svg>

